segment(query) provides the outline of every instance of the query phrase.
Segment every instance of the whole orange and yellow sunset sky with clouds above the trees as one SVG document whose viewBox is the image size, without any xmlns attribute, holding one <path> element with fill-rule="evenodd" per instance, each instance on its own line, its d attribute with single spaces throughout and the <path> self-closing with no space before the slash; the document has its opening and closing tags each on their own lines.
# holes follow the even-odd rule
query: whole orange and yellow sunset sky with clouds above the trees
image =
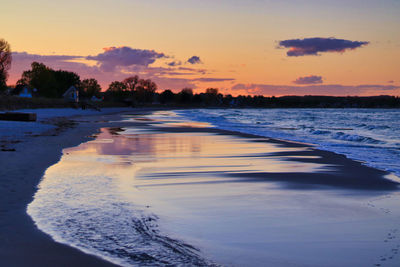
<svg viewBox="0 0 400 267">
<path fill-rule="evenodd" d="M 2 0 L 8 84 L 33 61 L 159 91 L 400 96 L 400 0 Z"/>
</svg>

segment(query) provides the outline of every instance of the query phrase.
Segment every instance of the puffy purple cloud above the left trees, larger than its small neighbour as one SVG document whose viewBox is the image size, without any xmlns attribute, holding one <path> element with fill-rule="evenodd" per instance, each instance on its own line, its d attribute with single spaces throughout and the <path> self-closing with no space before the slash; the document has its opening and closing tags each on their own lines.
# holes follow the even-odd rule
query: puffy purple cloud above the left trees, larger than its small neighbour
<svg viewBox="0 0 400 267">
<path fill-rule="evenodd" d="M 148 66 L 159 58 L 167 58 L 167 56 L 154 50 L 134 49 L 128 46 L 107 47 L 97 56 L 86 57 L 88 60 L 97 61 L 100 68 L 106 72 L 114 71 L 116 67 Z"/>
</svg>

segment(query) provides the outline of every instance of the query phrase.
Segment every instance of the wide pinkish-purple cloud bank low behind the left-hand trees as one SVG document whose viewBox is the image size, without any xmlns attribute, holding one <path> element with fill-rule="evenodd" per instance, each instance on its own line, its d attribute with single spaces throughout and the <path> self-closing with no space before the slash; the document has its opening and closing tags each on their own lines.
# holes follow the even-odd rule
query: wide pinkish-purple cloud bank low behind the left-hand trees
<svg viewBox="0 0 400 267">
<path fill-rule="evenodd" d="M 111 49 L 113 50 L 113 49 Z M 132 49 L 134 50 L 134 49 Z M 136 50 L 139 51 L 139 50 Z M 150 51 L 150 53 L 144 53 L 145 55 L 155 55 L 151 50 L 141 50 L 141 51 Z M 123 54 L 123 53 L 122 53 Z M 127 53 L 128 56 L 131 55 Z M 25 70 L 30 69 L 30 65 L 33 61 L 37 61 L 40 63 L 44 63 L 46 66 L 49 66 L 52 69 L 63 69 L 67 71 L 76 72 L 81 79 L 86 78 L 95 78 L 101 84 L 103 90 L 106 90 L 110 82 L 112 81 L 121 81 L 130 75 L 139 75 L 141 78 L 152 79 L 159 86 L 160 90 L 165 88 L 171 89 L 181 89 L 184 87 L 195 88 L 195 81 L 193 78 L 179 78 L 179 76 L 199 76 L 207 73 L 206 69 L 196 69 L 196 68 L 183 68 L 183 67 L 151 67 L 146 65 L 147 62 L 151 62 L 153 59 L 156 60 L 164 54 L 156 53 L 154 57 L 145 57 L 147 59 L 142 61 L 133 61 L 122 62 L 119 60 L 120 53 L 117 53 L 116 60 L 110 59 L 110 53 L 104 52 L 99 54 L 96 57 L 92 56 L 75 56 L 75 55 L 39 55 L 39 54 L 30 54 L 27 52 L 13 52 L 13 62 L 10 69 L 10 77 L 8 79 L 9 84 L 15 84 L 18 79 L 20 79 L 21 74 Z M 107 56 L 107 60 L 103 59 L 103 56 Z M 97 61 L 97 59 L 99 61 Z M 150 59 L 149 59 L 150 58 Z M 151 59 L 152 58 L 152 59 Z M 90 59 L 90 60 L 88 60 Z M 130 58 L 132 59 L 132 58 Z M 136 57 L 137 59 L 137 57 Z M 100 61 L 102 60 L 102 61 Z M 93 62 L 94 61 L 94 62 Z M 108 68 L 104 67 L 104 64 L 113 63 L 112 68 L 113 71 L 109 71 Z M 133 64 L 127 65 L 131 63 L 141 63 L 142 64 Z M 146 64 L 145 64 L 146 63 Z"/>
</svg>

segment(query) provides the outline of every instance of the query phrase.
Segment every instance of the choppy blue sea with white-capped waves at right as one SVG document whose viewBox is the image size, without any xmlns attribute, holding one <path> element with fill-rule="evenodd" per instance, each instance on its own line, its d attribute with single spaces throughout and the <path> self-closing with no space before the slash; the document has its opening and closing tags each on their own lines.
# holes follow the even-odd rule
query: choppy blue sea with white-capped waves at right
<svg viewBox="0 0 400 267">
<path fill-rule="evenodd" d="M 315 144 L 400 176 L 400 110 L 193 109 L 177 114 L 221 129 Z"/>
</svg>

